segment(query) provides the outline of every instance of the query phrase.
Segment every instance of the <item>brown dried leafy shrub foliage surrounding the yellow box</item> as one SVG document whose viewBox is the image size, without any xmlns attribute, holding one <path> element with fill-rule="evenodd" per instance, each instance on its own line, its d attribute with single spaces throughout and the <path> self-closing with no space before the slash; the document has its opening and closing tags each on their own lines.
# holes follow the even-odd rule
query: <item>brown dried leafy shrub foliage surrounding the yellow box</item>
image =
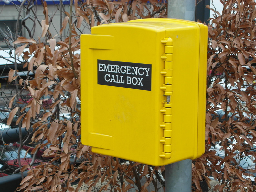
<svg viewBox="0 0 256 192">
<path fill-rule="evenodd" d="M 219 181 L 215 191 L 255 191 L 256 4 L 254 0 L 220 2 L 223 11 L 219 13 L 211 6 L 215 15 L 208 25 L 206 153 L 193 161 L 193 190 L 201 191 L 202 180 L 211 187 L 209 177 L 213 177 Z M 20 10 L 25 9 L 36 16 L 36 12 L 29 9 L 31 3 L 21 4 Z M 117 158 L 94 154 L 89 146 L 81 144 L 78 50 L 80 34 L 85 29 L 109 22 L 166 17 L 166 3 L 155 0 L 74 0 L 69 11 L 62 9 L 61 4 L 56 5 L 56 10 L 65 15 L 58 38 L 49 30 L 54 15 L 49 15 L 46 2 L 43 6 L 45 18 L 38 21 L 42 27 L 41 37 L 32 37 L 23 23 L 31 38 L 16 36 L 15 41 L 10 42 L 34 78 L 28 75 L 27 79 L 22 79 L 16 71 L 10 71 L 9 82 L 22 91 L 27 90 L 32 99 L 20 107 L 13 98 L 9 103 L 12 111 L 8 123 L 17 113 L 16 124 L 30 132 L 35 144 L 32 154 L 43 149 L 42 156 L 50 158 L 35 167 L 23 166 L 21 171 L 30 170 L 18 190 L 77 192 L 84 185 L 83 190 L 89 192 L 128 191 L 133 187 L 147 191 L 146 187 L 152 183 L 158 191 L 164 186 L 164 166 L 123 163 Z M 68 33 L 63 34 L 66 28 Z M 25 48 L 28 51 L 24 51 Z M 20 95 L 17 92 L 16 98 Z M 213 150 L 216 144 L 221 146 L 221 152 Z M 77 180 L 78 187 L 72 187 Z"/>
</svg>

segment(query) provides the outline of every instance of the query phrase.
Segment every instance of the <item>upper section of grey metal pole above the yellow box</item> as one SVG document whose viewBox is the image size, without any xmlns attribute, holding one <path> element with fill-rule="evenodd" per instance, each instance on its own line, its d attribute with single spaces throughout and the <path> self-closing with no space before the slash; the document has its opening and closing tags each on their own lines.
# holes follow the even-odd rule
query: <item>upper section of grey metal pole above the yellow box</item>
<svg viewBox="0 0 256 192">
<path fill-rule="evenodd" d="M 195 0 L 168 0 L 168 18 L 195 21 Z"/>
</svg>

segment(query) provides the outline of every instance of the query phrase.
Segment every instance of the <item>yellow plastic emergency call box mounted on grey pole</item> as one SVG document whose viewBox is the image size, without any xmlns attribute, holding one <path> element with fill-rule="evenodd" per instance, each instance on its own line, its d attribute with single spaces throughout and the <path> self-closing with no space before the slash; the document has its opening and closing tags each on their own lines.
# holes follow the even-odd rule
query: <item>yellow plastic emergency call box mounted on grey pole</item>
<svg viewBox="0 0 256 192">
<path fill-rule="evenodd" d="M 140 19 L 81 35 L 81 141 L 161 166 L 205 148 L 207 26 Z"/>
</svg>

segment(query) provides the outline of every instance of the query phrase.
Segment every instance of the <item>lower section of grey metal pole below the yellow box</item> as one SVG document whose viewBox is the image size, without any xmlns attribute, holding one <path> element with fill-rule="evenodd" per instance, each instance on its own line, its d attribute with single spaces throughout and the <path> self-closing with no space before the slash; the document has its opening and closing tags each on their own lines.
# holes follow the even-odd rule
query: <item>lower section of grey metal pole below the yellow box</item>
<svg viewBox="0 0 256 192">
<path fill-rule="evenodd" d="M 191 192 L 192 160 L 165 165 L 165 192 Z"/>
</svg>

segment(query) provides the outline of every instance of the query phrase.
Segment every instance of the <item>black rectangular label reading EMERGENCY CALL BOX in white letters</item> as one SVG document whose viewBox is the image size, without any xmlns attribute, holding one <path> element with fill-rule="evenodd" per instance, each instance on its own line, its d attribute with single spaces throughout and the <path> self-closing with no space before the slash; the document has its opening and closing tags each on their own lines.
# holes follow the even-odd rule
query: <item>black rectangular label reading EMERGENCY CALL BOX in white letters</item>
<svg viewBox="0 0 256 192">
<path fill-rule="evenodd" d="M 98 60 L 98 84 L 151 91 L 151 64 Z"/>
</svg>

